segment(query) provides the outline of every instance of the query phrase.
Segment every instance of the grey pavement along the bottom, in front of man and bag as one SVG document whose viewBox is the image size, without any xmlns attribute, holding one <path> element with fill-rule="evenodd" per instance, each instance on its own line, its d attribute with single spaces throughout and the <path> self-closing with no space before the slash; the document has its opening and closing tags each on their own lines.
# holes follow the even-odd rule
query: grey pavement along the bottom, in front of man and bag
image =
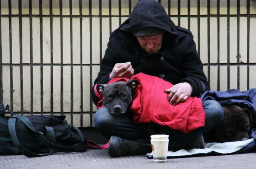
<svg viewBox="0 0 256 169">
<path fill-rule="evenodd" d="M 167 159 L 154 163 L 144 155 L 110 157 L 107 149 L 83 153 L 62 153 L 29 158 L 24 155 L 0 156 L 1 169 L 255 169 L 256 153 Z"/>
</svg>

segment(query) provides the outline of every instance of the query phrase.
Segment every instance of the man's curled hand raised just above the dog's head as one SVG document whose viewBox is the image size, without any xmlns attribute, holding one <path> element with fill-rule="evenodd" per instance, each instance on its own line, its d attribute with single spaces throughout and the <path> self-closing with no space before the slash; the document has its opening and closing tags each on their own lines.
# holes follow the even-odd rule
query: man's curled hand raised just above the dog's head
<svg viewBox="0 0 256 169">
<path fill-rule="evenodd" d="M 125 77 L 129 79 L 133 76 L 133 73 L 134 69 L 131 62 L 116 63 L 112 72 L 110 73 L 110 78 L 113 79 L 115 77 Z"/>
</svg>

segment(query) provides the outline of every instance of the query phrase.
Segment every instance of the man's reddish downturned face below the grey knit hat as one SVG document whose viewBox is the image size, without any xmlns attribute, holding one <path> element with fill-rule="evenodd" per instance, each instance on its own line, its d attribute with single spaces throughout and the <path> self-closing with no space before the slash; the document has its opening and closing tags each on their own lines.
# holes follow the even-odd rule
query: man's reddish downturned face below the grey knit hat
<svg viewBox="0 0 256 169">
<path fill-rule="evenodd" d="M 149 54 L 153 54 L 159 51 L 162 46 L 163 34 L 137 37 L 140 46 Z"/>
</svg>

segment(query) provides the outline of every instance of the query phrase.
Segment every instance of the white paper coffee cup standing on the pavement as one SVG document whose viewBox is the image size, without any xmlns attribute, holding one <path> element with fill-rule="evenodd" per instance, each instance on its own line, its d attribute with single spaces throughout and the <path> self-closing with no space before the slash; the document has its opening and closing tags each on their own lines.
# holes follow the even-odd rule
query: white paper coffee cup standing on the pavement
<svg viewBox="0 0 256 169">
<path fill-rule="evenodd" d="M 167 161 L 169 135 L 156 134 L 156 135 L 151 135 L 150 137 L 151 137 L 153 161 L 156 163 L 157 162 L 166 162 Z"/>
</svg>

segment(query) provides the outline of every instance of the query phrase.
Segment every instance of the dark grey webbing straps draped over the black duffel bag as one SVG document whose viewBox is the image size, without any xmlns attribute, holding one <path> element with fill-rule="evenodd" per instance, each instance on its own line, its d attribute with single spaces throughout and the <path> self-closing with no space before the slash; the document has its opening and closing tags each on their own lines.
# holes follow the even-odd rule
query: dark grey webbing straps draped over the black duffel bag
<svg viewBox="0 0 256 169">
<path fill-rule="evenodd" d="M 31 121 L 26 118 L 25 116 L 23 115 L 18 115 L 18 114 L 14 114 L 9 105 L 6 106 L 6 110 L 9 111 L 9 113 L 11 113 L 12 115 L 16 116 L 19 120 L 21 120 L 28 128 L 31 129 L 31 131 L 33 131 L 36 136 L 39 136 L 39 138 L 43 141 L 43 143 L 48 146 L 50 149 L 54 149 L 54 150 L 57 150 L 57 151 L 60 151 L 60 152 L 84 152 L 87 148 L 87 145 L 78 145 L 79 143 L 82 143 L 84 141 L 84 137 L 81 133 L 81 131 L 79 131 L 78 129 L 76 129 L 76 131 L 78 132 L 78 134 L 80 135 L 81 137 L 81 141 L 78 143 L 78 144 L 75 144 L 75 145 L 71 145 L 71 146 L 64 146 L 62 145 L 61 143 L 55 141 L 55 134 L 54 134 L 54 130 L 52 127 L 47 127 L 46 126 L 46 132 L 47 132 L 47 136 L 45 136 L 43 133 L 41 132 L 37 132 L 35 129 L 34 129 L 34 126 L 33 124 L 31 123 Z M 15 118 L 10 118 L 9 120 L 11 119 L 15 119 Z M 9 123 L 9 122 L 8 122 Z M 52 150 L 50 150 L 51 152 L 50 153 L 47 153 L 47 154 L 36 154 L 36 153 L 26 153 L 27 152 L 27 149 L 22 146 L 19 141 L 18 141 L 18 138 L 17 138 L 17 134 L 16 134 L 16 130 L 15 130 L 15 123 L 16 123 L 16 119 L 15 121 L 14 120 L 11 120 L 10 124 L 11 124 L 11 131 L 10 132 L 10 135 L 12 137 L 12 139 L 14 139 L 14 142 L 16 146 L 16 148 L 18 150 L 21 150 L 21 153 L 24 153 L 24 155 L 28 156 L 28 157 L 35 157 L 35 156 L 45 156 L 45 155 L 50 155 L 50 153 L 52 152 Z M 15 132 L 14 132 L 15 131 Z M 48 135 L 49 133 L 49 135 Z M 53 137 L 52 137 L 53 135 Z M 52 154 L 52 153 L 51 153 Z M 31 156 L 32 155 L 32 156 Z"/>
</svg>

